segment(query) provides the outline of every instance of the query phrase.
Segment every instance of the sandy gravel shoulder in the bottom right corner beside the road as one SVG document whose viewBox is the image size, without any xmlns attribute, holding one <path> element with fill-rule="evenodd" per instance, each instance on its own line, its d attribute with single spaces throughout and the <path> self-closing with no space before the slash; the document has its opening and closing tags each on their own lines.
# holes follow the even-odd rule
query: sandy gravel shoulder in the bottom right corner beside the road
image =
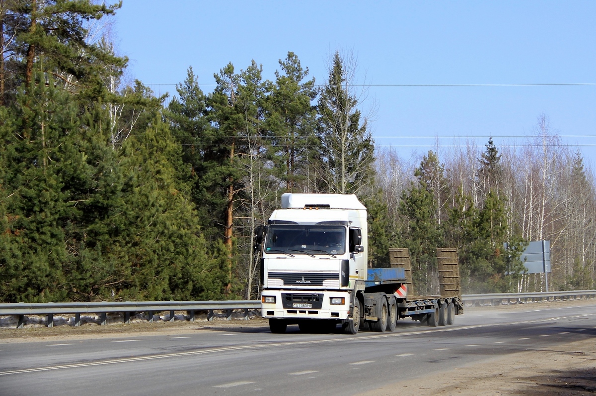
<svg viewBox="0 0 596 396">
<path fill-rule="evenodd" d="M 360 396 L 583 396 L 596 394 L 596 342 L 510 354 L 473 367 L 375 389 Z"/>
</svg>

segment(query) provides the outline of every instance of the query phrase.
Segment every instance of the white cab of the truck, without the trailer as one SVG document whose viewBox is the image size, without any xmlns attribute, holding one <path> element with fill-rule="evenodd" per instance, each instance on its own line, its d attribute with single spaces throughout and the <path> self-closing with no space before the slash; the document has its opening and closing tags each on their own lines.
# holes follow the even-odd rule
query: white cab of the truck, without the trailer
<svg viewBox="0 0 596 396">
<path fill-rule="evenodd" d="M 367 275 L 366 208 L 354 195 L 283 194 L 262 243 L 261 311 L 271 330 L 351 319 Z"/>
</svg>

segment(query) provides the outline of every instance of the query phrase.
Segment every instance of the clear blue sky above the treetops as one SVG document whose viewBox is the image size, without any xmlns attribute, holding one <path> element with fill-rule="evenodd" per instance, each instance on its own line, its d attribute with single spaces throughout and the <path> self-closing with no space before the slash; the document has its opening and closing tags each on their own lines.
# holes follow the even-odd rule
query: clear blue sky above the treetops
<svg viewBox="0 0 596 396">
<path fill-rule="evenodd" d="M 324 83 L 343 49 L 371 84 L 375 143 L 405 159 L 437 138 L 523 144 L 545 114 L 596 165 L 596 1 L 123 0 L 114 21 L 128 73 L 156 93 L 189 66 L 206 93 L 228 62 L 273 80 L 288 51 Z"/>
</svg>

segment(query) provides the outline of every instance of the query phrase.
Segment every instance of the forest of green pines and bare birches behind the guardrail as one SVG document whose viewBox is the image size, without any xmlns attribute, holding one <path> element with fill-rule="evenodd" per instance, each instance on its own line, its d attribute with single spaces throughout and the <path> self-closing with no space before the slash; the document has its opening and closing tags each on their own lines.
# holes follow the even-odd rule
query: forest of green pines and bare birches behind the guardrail
<svg viewBox="0 0 596 396">
<path fill-rule="evenodd" d="M 0 0 L 0 302 L 256 299 L 253 230 L 286 192 L 356 194 L 370 266 L 407 247 L 421 294 L 437 247 L 463 293 L 544 290 L 520 260 L 536 240 L 551 290 L 596 286 L 594 174 L 548 115 L 523 145 L 406 160 L 375 147 L 353 56 L 324 81 L 293 52 L 274 80 L 222 65 L 211 92 L 189 67 L 156 96 L 97 29 L 121 6 Z"/>
</svg>

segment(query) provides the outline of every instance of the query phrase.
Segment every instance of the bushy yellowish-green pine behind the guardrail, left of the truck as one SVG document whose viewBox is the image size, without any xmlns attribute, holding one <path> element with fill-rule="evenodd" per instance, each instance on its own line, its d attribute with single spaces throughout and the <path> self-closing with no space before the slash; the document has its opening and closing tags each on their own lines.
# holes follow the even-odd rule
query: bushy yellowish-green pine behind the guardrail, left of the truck
<svg viewBox="0 0 596 396">
<path fill-rule="evenodd" d="M 218 256 L 200 234 L 190 186 L 180 172 L 181 148 L 158 115 L 144 134 L 129 139 L 121 166 L 128 176 L 122 213 L 116 219 L 117 248 L 126 257 L 116 290 L 119 298 L 146 300 L 221 298 L 228 284 Z M 124 260 L 126 259 L 126 260 Z"/>
</svg>

